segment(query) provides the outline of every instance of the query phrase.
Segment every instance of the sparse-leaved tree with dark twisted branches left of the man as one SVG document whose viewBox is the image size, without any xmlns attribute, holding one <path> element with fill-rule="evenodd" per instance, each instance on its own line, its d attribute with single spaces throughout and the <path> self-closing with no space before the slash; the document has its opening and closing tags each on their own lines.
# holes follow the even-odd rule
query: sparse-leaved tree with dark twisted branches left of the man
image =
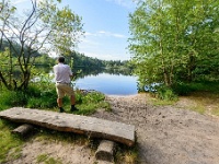
<svg viewBox="0 0 219 164">
<path fill-rule="evenodd" d="M 0 15 L 1 40 L 10 45 L 9 56 L 5 57 L 10 60 L 11 68 L 9 72 L 1 67 L 0 80 L 9 90 L 27 89 L 38 51 L 68 55 L 83 34 L 81 17 L 72 13 L 68 7 L 59 9 L 53 0 L 30 2 L 32 9 L 20 17 L 14 12 L 15 8 L 10 7 L 10 0 L 0 3 L 1 13 L 4 13 Z M 8 16 L 4 16 L 5 14 Z M 20 79 L 13 73 L 15 69 L 20 72 Z"/>
</svg>

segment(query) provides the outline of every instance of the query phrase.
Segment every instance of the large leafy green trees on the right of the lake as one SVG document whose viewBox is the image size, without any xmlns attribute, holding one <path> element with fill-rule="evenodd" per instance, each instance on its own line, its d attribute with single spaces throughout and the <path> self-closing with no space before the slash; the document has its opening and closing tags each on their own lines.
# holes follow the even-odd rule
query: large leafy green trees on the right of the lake
<svg viewBox="0 0 219 164">
<path fill-rule="evenodd" d="M 140 83 L 172 86 L 209 75 L 209 71 L 216 74 L 218 8 L 215 0 L 139 1 L 129 19 L 128 48 Z M 206 63 L 214 63 L 215 69 Z"/>
</svg>

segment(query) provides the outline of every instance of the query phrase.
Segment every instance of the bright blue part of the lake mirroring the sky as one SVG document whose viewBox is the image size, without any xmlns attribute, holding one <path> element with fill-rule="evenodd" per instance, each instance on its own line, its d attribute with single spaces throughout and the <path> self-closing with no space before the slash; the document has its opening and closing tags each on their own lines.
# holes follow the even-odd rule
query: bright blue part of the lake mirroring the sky
<svg viewBox="0 0 219 164">
<path fill-rule="evenodd" d="M 106 95 L 137 94 L 137 78 L 123 74 L 99 73 L 88 75 L 76 81 L 76 86 L 81 90 L 95 90 Z"/>
</svg>

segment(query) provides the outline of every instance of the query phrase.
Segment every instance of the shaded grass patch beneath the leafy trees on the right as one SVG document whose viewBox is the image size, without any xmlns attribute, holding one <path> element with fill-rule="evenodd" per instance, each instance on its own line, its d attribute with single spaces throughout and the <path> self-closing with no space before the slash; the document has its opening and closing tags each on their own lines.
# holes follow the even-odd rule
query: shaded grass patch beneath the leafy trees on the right
<svg viewBox="0 0 219 164">
<path fill-rule="evenodd" d="M 218 82 L 177 83 L 172 89 L 162 86 L 157 92 L 150 93 L 149 102 L 157 106 L 174 105 L 182 96 L 193 102 L 191 105 L 185 104 L 186 108 L 199 114 L 219 116 Z"/>
</svg>

